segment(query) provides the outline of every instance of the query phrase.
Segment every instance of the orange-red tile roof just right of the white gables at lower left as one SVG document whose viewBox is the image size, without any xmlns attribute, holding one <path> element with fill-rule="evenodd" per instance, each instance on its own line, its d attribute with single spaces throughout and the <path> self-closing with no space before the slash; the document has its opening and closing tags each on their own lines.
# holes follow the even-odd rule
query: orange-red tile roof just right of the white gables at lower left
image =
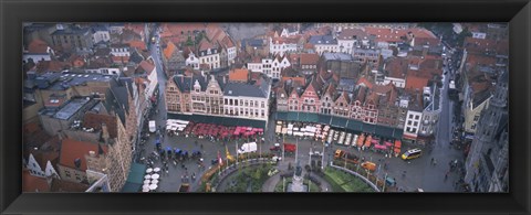
<svg viewBox="0 0 531 215">
<path fill-rule="evenodd" d="M 70 138 L 63 139 L 59 163 L 75 169 L 74 160 L 81 159 L 81 170 L 86 170 L 85 154 L 90 151 L 98 153 L 98 143 L 83 142 Z M 107 153 L 107 146 L 102 146 L 104 153 Z"/>
</svg>

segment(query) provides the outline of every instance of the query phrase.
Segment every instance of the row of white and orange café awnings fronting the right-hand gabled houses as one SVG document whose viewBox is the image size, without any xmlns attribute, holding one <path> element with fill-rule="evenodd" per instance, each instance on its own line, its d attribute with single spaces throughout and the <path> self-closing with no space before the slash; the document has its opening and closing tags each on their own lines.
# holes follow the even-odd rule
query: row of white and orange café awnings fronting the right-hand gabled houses
<svg viewBox="0 0 531 215">
<path fill-rule="evenodd" d="M 308 112 L 277 112 L 275 119 L 277 135 L 311 138 L 326 144 L 369 149 L 395 157 L 400 153 L 402 129 Z"/>
</svg>

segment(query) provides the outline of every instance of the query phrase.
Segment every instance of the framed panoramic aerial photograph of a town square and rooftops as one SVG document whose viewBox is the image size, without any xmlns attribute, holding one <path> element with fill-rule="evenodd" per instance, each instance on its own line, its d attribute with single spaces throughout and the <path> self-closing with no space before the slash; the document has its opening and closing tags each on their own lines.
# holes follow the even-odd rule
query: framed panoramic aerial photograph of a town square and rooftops
<svg viewBox="0 0 531 215">
<path fill-rule="evenodd" d="M 508 192 L 506 23 L 24 23 L 24 192 Z"/>
</svg>

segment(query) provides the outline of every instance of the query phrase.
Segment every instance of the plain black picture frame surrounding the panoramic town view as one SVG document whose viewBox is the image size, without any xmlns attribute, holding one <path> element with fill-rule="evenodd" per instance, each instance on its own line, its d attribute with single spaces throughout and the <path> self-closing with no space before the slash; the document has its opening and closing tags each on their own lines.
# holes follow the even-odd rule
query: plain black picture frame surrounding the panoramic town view
<svg viewBox="0 0 531 215">
<path fill-rule="evenodd" d="M 529 0 L 2 0 L 1 203 L 6 214 L 529 214 Z M 21 194 L 22 22 L 509 22 L 507 194 Z"/>
</svg>

